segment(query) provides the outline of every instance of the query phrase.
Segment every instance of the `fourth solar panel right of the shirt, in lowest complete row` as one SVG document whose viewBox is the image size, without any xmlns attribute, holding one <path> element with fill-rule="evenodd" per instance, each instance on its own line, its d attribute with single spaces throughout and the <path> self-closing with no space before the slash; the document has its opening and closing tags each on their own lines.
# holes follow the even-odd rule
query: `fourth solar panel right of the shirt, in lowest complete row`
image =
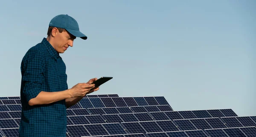
<svg viewBox="0 0 256 137">
<path fill-rule="evenodd" d="M 130 134 L 134 133 L 145 133 L 146 131 L 138 122 L 122 122 L 122 125 L 127 129 Z M 125 136 L 125 137 L 133 137 L 133 136 Z M 135 137 L 135 136 L 134 136 Z M 138 136 L 139 137 L 139 136 Z"/>
</svg>

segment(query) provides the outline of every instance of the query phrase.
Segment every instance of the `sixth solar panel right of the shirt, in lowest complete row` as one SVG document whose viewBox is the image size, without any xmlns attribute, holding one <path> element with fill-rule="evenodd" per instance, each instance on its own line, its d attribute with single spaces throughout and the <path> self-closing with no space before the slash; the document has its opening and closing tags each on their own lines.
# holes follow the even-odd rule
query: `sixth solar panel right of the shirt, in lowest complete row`
<svg viewBox="0 0 256 137">
<path fill-rule="evenodd" d="M 161 120 L 161 121 L 156 121 L 156 123 L 165 132 L 167 132 L 167 131 L 179 131 L 177 126 L 175 126 L 175 124 L 172 122 L 172 120 Z"/>
</svg>

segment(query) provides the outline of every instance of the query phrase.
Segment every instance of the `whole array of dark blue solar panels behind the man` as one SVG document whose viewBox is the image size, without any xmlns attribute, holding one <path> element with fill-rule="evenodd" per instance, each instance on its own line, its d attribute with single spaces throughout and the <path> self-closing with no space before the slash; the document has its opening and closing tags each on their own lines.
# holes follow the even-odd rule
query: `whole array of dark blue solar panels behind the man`
<svg viewBox="0 0 256 137">
<path fill-rule="evenodd" d="M 20 97 L 0 97 L 0 137 L 18 137 Z M 67 137 L 256 137 L 256 116 L 174 111 L 164 97 L 87 95 L 67 109 Z"/>
</svg>

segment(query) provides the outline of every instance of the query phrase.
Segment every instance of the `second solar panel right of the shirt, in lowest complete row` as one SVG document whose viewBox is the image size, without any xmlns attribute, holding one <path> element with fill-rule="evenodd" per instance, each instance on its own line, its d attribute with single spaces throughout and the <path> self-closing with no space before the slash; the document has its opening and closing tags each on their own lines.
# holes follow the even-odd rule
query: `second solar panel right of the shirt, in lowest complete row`
<svg viewBox="0 0 256 137">
<path fill-rule="evenodd" d="M 101 124 L 84 125 L 92 136 L 108 135 L 108 132 Z"/>
</svg>

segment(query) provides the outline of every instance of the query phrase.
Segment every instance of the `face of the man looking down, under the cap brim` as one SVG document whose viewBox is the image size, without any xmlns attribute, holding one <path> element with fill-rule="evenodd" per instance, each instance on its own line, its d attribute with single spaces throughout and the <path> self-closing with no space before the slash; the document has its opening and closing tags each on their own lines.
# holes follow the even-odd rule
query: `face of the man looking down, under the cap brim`
<svg viewBox="0 0 256 137">
<path fill-rule="evenodd" d="M 73 47 L 73 41 L 75 38 L 72 38 L 67 31 L 62 31 L 61 33 L 58 31 L 54 37 L 54 46 L 53 48 L 58 53 L 64 53 L 69 46 Z"/>
</svg>

